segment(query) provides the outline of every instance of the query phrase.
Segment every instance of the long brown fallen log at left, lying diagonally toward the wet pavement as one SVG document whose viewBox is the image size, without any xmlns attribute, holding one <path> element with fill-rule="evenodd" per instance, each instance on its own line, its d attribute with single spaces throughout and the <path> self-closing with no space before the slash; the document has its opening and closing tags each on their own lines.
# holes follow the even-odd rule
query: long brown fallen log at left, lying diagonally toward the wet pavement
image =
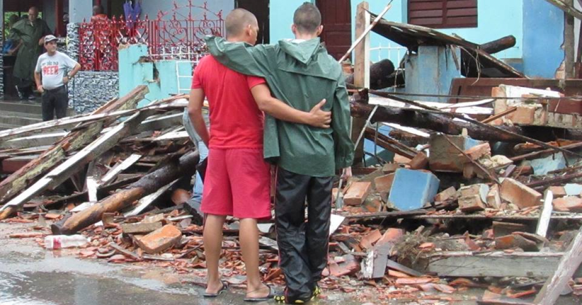
<svg viewBox="0 0 582 305">
<path fill-rule="evenodd" d="M 59 223 L 51 226 L 53 234 L 73 234 L 80 229 L 101 221 L 103 213 L 112 213 L 130 206 L 136 200 L 143 198 L 184 174 L 193 171 L 198 163 L 198 152 L 190 152 L 180 157 L 175 162 L 169 162 L 165 166 L 145 175 L 139 181 L 127 186 L 126 189 L 115 193 L 88 207 Z"/>
</svg>

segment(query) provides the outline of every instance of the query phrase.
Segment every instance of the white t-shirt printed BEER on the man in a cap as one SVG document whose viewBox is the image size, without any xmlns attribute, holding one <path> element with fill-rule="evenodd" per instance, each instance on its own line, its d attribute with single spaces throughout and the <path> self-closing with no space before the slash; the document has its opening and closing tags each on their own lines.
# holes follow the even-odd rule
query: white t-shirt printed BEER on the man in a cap
<svg viewBox="0 0 582 305">
<path fill-rule="evenodd" d="M 52 56 L 48 53 L 38 56 L 35 71 L 41 73 L 42 88 L 52 90 L 64 85 L 65 70 L 72 70 L 76 64 L 76 61 L 59 51 Z"/>
</svg>

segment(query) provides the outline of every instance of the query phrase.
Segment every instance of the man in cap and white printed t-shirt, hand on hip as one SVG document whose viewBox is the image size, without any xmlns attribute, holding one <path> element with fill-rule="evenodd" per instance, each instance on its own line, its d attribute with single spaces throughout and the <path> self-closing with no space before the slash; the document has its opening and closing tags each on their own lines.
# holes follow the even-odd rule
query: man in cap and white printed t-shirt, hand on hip
<svg viewBox="0 0 582 305">
<path fill-rule="evenodd" d="M 42 120 L 50 121 L 56 113 L 56 118 L 66 116 L 69 104 L 69 95 L 66 84 L 74 74 L 81 69 L 81 65 L 67 56 L 56 51 L 56 37 L 44 37 L 44 47 L 47 52 L 38 56 L 34 80 L 37 89 L 42 93 Z M 65 74 L 65 71 L 69 74 Z M 41 83 L 42 78 L 42 83 Z"/>
</svg>

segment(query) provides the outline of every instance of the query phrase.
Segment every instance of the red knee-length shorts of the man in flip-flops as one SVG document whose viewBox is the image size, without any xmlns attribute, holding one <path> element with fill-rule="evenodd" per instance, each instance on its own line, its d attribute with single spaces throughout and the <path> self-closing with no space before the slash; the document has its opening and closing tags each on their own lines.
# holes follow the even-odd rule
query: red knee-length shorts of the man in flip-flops
<svg viewBox="0 0 582 305">
<path fill-rule="evenodd" d="M 271 218 L 269 164 L 262 149 L 210 149 L 201 210 L 236 218 Z"/>
</svg>

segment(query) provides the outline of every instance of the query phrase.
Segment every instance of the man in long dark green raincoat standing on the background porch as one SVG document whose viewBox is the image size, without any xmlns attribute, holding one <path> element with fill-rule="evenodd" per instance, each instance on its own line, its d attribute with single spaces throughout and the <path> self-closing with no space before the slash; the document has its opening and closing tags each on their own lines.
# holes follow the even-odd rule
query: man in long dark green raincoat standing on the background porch
<svg viewBox="0 0 582 305">
<path fill-rule="evenodd" d="M 31 89 L 34 68 L 44 45 L 41 38 L 48 34 L 51 34 L 51 30 L 44 20 L 38 19 L 38 9 L 35 6 L 29 9 L 28 19 L 18 21 L 10 29 L 10 38 L 22 42 L 16 55 L 13 72 L 20 98 L 34 99 Z"/>
</svg>

